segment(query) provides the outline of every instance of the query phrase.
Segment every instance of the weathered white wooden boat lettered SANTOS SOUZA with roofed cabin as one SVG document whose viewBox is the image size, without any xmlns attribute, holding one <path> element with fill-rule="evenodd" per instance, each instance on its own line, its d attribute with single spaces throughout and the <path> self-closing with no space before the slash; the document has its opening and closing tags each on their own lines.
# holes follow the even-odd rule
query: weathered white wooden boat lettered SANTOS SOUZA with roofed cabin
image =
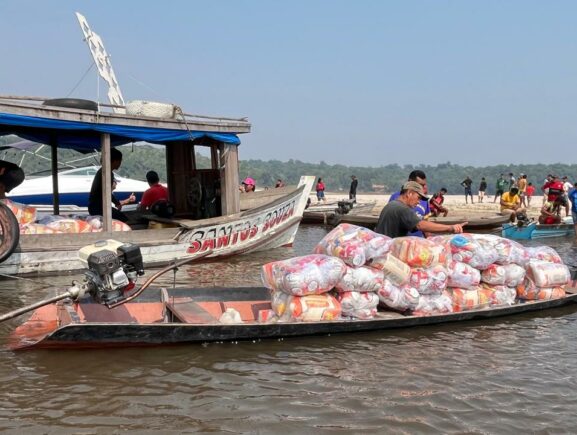
<svg viewBox="0 0 577 435">
<path fill-rule="evenodd" d="M 103 232 L 22 234 L 12 245 L 2 243 L 0 257 L 5 260 L 0 263 L 0 274 L 81 269 L 78 249 L 103 239 L 138 244 L 146 265 L 166 264 L 206 251 L 212 257 L 220 257 L 292 244 L 314 177 L 301 178 L 298 186 L 240 194 L 238 135 L 250 132 L 251 125 L 246 119 L 184 113 L 179 119 L 153 118 L 44 103 L 43 98 L 0 97 L 0 136 L 17 134 L 52 146 L 53 214 L 60 214 L 55 164 L 58 149 L 100 148 L 104 169 Z M 166 149 L 174 217 L 164 219 L 145 214 L 133 231 L 112 232 L 108 205 L 111 144 L 135 142 L 138 146 L 146 140 Z M 196 147 L 210 150 L 211 168 L 196 166 Z M 0 219 L 0 224 L 3 234 L 7 234 L 9 223 Z"/>
</svg>

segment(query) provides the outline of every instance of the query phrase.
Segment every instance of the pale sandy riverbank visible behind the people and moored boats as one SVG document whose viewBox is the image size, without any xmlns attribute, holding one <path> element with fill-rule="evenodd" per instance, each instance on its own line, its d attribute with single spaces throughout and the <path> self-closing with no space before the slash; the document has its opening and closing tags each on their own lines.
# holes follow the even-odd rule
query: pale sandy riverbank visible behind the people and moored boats
<svg viewBox="0 0 577 435">
<path fill-rule="evenodd" d="M 327 202 L 335 202 L 343 199 L 348 199 L 348 195 L 342 193 L 327 192 L 325 194 Z M 359 203 L 375 201 L 375 207 L 372 210 L 373 214 L 380 213 L 381 209 L 389 202 L 390 195 L 376 194 L 376 193 L 360 193 L 357 195 Z M 482 203 L 478 203 L 477 197 L 474 198 L 474 204 L 466 204 L 463 195 L 445 195 L 445 207 L 449 209 L 449 216 L 481 216 L 499 213 L 499 200 L 493 202 L 493 197 L 485 198 Z M 317 204 L 316 195 L 311 195 L 312 204 Z M 531 217 L 538 216 L 542 206 L 542 197 L 534 197 L 531 201 L 531 207 L 528 210 L 528 215 Z"/>
</svg>

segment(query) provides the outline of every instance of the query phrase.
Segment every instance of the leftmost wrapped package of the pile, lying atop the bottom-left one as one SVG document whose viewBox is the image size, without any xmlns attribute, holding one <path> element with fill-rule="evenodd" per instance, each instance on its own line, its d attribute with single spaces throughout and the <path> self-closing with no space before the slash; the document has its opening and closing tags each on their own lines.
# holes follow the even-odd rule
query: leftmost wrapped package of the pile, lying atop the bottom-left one
<svg viewBox="0 0 577 435">
<path fill-rule="evenodd" d="M 262 267 L 265 287 L 287 294 L 305 296 L 326 293 L 341 281 L 346 265 L 328 255 L 311 254 L 273 261 Z"/>
</svg>

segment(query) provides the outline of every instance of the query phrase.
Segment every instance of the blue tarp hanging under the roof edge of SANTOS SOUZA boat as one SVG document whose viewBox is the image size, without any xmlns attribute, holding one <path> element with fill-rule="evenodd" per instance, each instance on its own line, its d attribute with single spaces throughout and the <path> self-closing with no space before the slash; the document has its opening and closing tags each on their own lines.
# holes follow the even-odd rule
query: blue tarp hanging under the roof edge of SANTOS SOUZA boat
<svg viewBox="0 0 577 435">
<path fill-rule="evenodd" d="M 100 149 L 101 133 L 110 134 L 113 146 L 139 141 L 166 145 L 169 142 L 190 141 L 202 137 L 233 145 L 240 144 L 240 139 L 235 133 L 95 124 L 0 113 L 0 136 L 15 134 L 47 145 L 52 139 L 56 139 L 59 148 L 78 151 Z"/>
</svg>

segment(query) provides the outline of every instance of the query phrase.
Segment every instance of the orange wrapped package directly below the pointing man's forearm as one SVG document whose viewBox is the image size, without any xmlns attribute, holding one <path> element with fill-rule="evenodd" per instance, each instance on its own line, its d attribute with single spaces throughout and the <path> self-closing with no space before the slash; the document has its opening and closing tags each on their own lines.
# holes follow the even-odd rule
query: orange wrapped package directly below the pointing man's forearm
<svg viewBox="0 0 577 435">
<path fill-rule="evenodd" d="M 446 252 L 442 245 L 421 237 L 398 237 L 393 239 L 391 253 L 410 267 L 427 268 L 435 264 L 445 264 Z"/>
</svg>

